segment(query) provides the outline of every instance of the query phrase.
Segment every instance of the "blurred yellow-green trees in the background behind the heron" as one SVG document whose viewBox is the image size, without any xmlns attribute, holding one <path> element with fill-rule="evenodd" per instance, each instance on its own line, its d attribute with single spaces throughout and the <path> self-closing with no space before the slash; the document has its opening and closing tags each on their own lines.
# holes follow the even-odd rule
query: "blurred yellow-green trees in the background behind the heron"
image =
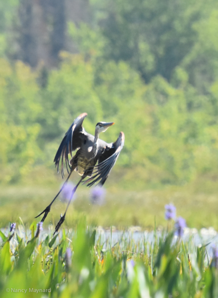
<svg viewBox="0 0 218 298">
<path fill-rule="evenodd" d="M 0 5 L 7 46 L 16 5 Z M 68 24 L 78 54 L 61 52 L 58 68 L 33 70 L 0 50 L 0 182 L 52 175 L 61 138 L 82 112 L 89 133 L 98 121 L 116 123 L 107 142 L 125 133 L 116 165 L 125 185 L 218 180 L 217 1 L 90 5 L 90 23 Z"/>
</svg>

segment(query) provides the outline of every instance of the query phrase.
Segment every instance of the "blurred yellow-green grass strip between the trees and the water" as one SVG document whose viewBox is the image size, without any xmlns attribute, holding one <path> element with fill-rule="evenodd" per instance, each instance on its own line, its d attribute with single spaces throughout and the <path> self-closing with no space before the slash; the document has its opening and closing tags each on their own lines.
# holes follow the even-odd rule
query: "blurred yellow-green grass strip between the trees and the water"
<svg viewBox="0 0 218 298">
<path fill-rule="evenodd" d="M 77 225 L 81 217 L 86 217 L 87 224 L 109 228 L 115 226 L 124 229 L 129 226 L 140 226 L 142 229 L 153 230 L 155 225 L 163 228 L 165 225 L 164 205 L 169 202 L 176 206 L 179 215 L 186 219 L 190 228 L 212 227 L 218 230 L 218 187 L 217 183 L 202 180 L 196 184 L 151 188 L 141 190 L 134 182 L 133 185 L 124 184 L 125 189 L 118 186 L 122 178 L 117 175 L 110 177 L 107 183 L 106 200 L 102 206 L 93 204 L 90 200 L 92 189 L 81 186 L 77 198 L 69 206 L 63 226 L 72 228 Z M 41 175 L 45 173 L 41 172 Z M 60 178 L 61 179 L 61 178 Z M 78 180 L 75 173 L 74 181 Z M 0 192 L 0 225 L 17 222 L 21 217 L 25 224 L 30 224 L 42 210 L 51 203 L 58 192 L 60 181 L 48 187 L 26 183 L 24 185 L 1 185 Z M 51 184 L 51 183 L 50 183 Z M 133 187 L 134 186 L 134 187 Z M 207 186 L 207 187 L 206 187 Z M 205 203 L 207 202 L 207 204 Z M 60 214 L 66 209 L 62 196 L 54 202 L 45 224 L 58 223 Z"/>
</svg>

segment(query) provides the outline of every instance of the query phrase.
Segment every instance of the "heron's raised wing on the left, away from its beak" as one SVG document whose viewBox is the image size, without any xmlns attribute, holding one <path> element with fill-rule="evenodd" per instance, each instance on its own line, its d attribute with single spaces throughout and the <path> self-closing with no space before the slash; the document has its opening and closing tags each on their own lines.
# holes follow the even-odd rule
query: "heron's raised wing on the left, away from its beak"
<svg viewBox="0 0 218 298">
<path fill-rule="evenodd" d="M 55 166 L 57 166 L 57 172 L 59 170 L 59 162 L 61 159 L 61 175 L 64 176 L 63 173 L 63 158 L 65 159 L 66 169 L 69 173 L 68 166 L 69 159 L 68 153 L 72 156 L 72 151 L 81 147 L 82 137 L 84 134 L 84 129 L 82 127 L 82 123 L 84 118 L 87 116 L 87 113 L 80 114 L 72 123 L 65 136 L 63 137 L 62 142 L 60 143 L 59 148 L 57 149 L 56 155 L 54 157 Z"/>
</svg>

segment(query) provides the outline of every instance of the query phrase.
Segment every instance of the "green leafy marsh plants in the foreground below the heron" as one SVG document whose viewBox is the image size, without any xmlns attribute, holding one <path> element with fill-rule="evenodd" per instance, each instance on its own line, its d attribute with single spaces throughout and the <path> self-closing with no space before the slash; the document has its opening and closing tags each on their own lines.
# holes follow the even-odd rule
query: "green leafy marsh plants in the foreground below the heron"
<svg viewBox="0 0 218 298">
<path fill-rule="evenodd" d="M 183 244 L 171 230 L 139 240 L 123 233 L 113 245 L 84 221 L 54 238 L 51 229 L 37 234 L 36 228 L 34 222 L 18 225 L 15 234 L 0 233 L 2 298 L 218 295 L 218 257 L 209 255 L 207 245 L 196 246 L 192 237 Z"/>
</svg>

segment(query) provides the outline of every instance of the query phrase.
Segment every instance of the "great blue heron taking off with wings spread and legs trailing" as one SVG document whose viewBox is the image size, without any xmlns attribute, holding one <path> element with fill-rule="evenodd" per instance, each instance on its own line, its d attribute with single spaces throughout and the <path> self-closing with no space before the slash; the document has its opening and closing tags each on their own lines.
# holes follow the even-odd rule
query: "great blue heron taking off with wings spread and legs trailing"
<svg viewBox="0 0 218 298">
<path fill-rule="evenodd" d="M 67 204 L 65 213 L 61 216 L 59 222 L 55 227 L 55 232 L 58 231 L 60 225 L 64 222 L 65 215 L 69 204 L 72 200 L 73 194 L 75 193 L 79 184 L 86 177 L 87 180 L 83 181 L 83 184 L 92 186 L 96 182 L 101 186 L 105 183 L 109 176 L 109 173 L 116 162 L 117 157 L 124 145 L 124 133 L 120 132 L 118 139 L 114 143 L 106 143 L 99 139 L 99 134 L 105 132 L 109 126 L 113 125 L 114 122 L 98 122 L 96 124 L 95 136 L 88 134 L 82 126 L 84 118 L 87 113 L 80 114 L 72 123 L 68 131 L 66 132 L 60 146 L 54 157 L 55 166 L 57 166 L 57 172 L 59 170 L 59 163 L 61 162 L 61 175 L 64 176 L 63 165 L 64 159 L 68 177 L 61 189 L 54 197 L 53 201 L 41 212 L 37 217 L 44 214 L 42 222 L 45 221 L 48 213 L 51 210 L 51 206 L 54 203 L 57 196 L 63 190 L 73 170 L 78 171 L 82 176 L 77 185 L 73 188 L 71 198 Z M 72 156 L 72 151 L 77 150 L 76 154 Z M 68 159 L 68 154 L 71 155 L 71 159 Z M 96 165 L 96 163 L 98 164 Z M 36 217 L 36 218 L 37 218 Z"/>
</svg>

